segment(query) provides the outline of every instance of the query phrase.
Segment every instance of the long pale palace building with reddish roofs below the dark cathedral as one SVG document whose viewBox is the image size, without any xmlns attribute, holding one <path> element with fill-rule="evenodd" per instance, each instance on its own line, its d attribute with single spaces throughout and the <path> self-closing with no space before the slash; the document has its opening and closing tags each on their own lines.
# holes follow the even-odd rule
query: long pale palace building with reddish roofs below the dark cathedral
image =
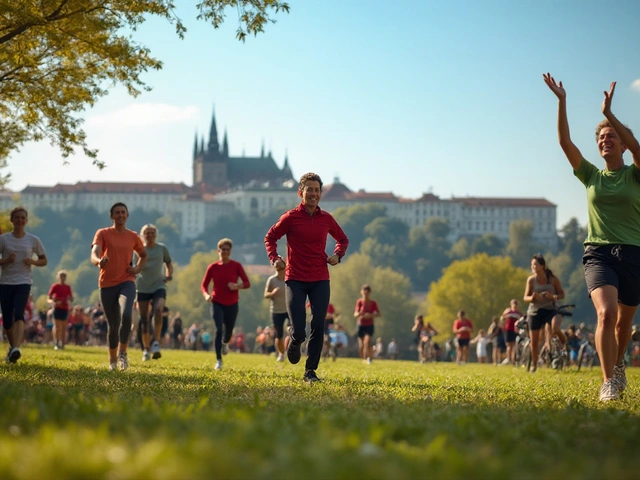
<svg viewBox="0 0 640 480">
<path fill-rule="evenodd" d="M 24 205 L 27 209 L 48 207 L 55 211 L 69 208 L 94 208 L 107 212 L 115 202 L 124 202 L 131 211 L 156 211 L 170 215 L 189 241 L 223 215 L 265 215 L 295 207 L 299 198 L 297 185 L 287 181 L 279 186 L 249 183 L 244 187 L 216 192 L 206 185 L 189 187 L 184 183 L 94 183 L 57 184 L 52 187 L 28 186 L 19 193 L 0 194 L 3 209 Z M 387 215 L 405 221 L 410 227 L 433 217 L 449 221 L 450 238 L 494 233 L 509 239 L 509 224 L 530 219 L 534 224 L 534 241 L 550 248 L 557 242 L 556 205 L 544 198 L 453 197 L 441 199 L 426 193 L 417 199 L 397 197 L 391 192 L 351 191 L 338 178 L 325 185 L 321 206 L 332 212 L 339 207 L 377 203 Z"/>
</svg>

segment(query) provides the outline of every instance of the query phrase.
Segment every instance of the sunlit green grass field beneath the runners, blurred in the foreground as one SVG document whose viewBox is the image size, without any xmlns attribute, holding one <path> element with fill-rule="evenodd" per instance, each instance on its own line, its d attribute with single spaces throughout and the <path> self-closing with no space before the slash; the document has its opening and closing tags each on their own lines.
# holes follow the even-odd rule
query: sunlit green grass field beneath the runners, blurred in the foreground
<svg viewBox="0 0 640 480">
<path fill-rule="evenodd" d="M 108 372 L 98 348 L 26 348 L 0 366 L 0 478 L 636 479 L 640 369 L 324 362 L 165 351 Z"/>
</svg>

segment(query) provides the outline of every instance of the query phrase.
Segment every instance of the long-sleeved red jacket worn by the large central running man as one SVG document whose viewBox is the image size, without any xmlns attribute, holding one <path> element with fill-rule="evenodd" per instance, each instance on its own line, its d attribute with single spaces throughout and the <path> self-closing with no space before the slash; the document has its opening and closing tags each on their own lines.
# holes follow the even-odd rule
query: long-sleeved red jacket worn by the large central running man
<svg viewBox="0 0 640 480">
<path fill-rule="evenodd" d="M 327 235 L 336 240 L 333 253 L 338 257 L 342 258 L 349 246 L 349 239 L 330 213 L 317 207 L 313 215 L 309 215 L 302 203 L 284 213 L 264 237 L 271 263 L 278 259 L 277 242 L 284 235 L 287 236 L 285 280 L 329 280 Z"/>
</svg>

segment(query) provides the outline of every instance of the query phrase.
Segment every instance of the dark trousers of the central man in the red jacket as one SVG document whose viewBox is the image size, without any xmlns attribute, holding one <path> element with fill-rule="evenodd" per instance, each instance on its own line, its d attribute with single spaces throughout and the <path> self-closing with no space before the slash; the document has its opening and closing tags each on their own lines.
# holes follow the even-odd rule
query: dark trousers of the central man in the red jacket
<svg viewBox="0 0 640 480">
<path fill-rule="evenodd" d="M 327 316 L 329 308 L 329 297 L 331 287 L 329 280 L 318 282 L 300 282 L 298 280 L 287 280 L 286 299 L 289 319 L 293 330 L 291 341 L 302 343 L 306 338 L 307 311 L 305 304 L 309 297 L 311 305 L 311 335 L 307 345 L 307 370 L 316 370 L 322 355 L 324 344 L 324 317 Z"/>
</svg>

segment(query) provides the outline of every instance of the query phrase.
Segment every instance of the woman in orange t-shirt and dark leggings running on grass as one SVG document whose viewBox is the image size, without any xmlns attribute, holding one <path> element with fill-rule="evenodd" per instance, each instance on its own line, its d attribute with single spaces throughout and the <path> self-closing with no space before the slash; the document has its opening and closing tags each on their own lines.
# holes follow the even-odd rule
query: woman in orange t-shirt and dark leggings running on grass
<svg viewBox="0 0 640 480">
<path fill-rule="evenodd" d="M 113 226 L 98 230 L 91 247 L 91 263 L 100 268 L 98 286 L 108 325 L 110 371 L 129 368 L 127 345 L 136 299 L 135 279 L 147 263 L 142 240 L 136 232 L 126 228 L 128 218 L 127 206 L 121 202 L 114 204 L 111 207 Z M 138 254 L 135 266 L 132 265 L 134 251 Z M 122 308 L 121 299 L 124 299 Z"/>
</svg>

